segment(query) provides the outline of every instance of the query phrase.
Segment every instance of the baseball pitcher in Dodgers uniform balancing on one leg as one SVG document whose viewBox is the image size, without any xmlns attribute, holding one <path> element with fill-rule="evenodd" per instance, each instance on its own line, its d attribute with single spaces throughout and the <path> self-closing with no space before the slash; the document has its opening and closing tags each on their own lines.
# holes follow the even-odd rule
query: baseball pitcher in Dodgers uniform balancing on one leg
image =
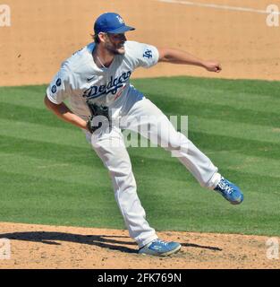
<svg viewBox="0 0 280 287">
<path fill-rule="evenodd" d="M 239 187 L 223 178 L 208 157 L 182 133 L 177 132 L 163 112 L 130 84 L 137 67 L 158 62 L 198 65 L 219 73 L 221 65 L 204 61 L 172 48 L 128 41 L 125 25 L 117 13 L 103 13 L 94 24 L 94 41 L 61 65 L 47 88 L 45 104 L 57 117 L 80 127 L 112 178 L 115 200 L 130 236 L 140 254 L 167 256 L 181 245 L 158 239 L 140 204 L 122 130 L 131 130 L 177 152 L 178 160 L 202 187 L 216 191 L 231 204 L 241 204 Z M 70 101 L 71 109 L 64 104 Z M 164 99 L 163 99 L 164 100 Z M 147 128 L 142 128 L 148 126 Z"/>
</svg>

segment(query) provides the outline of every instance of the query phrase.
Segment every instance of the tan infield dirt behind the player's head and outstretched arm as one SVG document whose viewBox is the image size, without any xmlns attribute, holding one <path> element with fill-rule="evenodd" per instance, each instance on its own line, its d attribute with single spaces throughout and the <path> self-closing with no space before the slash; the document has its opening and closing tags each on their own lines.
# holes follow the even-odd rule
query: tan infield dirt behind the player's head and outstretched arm
<svg viewBox="0 0 280 287">
<path fill-rule="evenodd" d="M 12 18 L 11 27 L 0 27 L 0 86 L 50 83 L 61 62 L 91 41 L 94 20 L 108 11 L 120 13 L 136 27 L 127 33 L 128 39 L 181 48 L 223 65 L 222 73 L 210 74 L 199 67 L 158 64 L 148 71 L 138 69 L 134 77 L 184 74 L 280 80 L 280 27 L 267 26 L 267 14 L 259 13 L 270 0 L 197 1 L 207 6 L 175 2 L 6 0 Z"/>
</svg>

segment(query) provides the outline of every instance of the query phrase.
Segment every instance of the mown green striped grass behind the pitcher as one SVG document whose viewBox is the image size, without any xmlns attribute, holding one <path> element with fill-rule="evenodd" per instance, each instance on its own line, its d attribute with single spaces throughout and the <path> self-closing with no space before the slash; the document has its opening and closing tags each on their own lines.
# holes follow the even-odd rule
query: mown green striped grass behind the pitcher
<svg viewBox="0 0 280 287">
<path fill-rule="evenodd" d="M 280 83 L 191 77 L 132 81 L 244 192 L 233 206 L 161 148 L 129 148 L 157 230 L 280 235 Z M 106 169 L 81 131 L 43 105 L 46 86 L 0 88 L 0 221 L 124 228 Z"/>
</svg>

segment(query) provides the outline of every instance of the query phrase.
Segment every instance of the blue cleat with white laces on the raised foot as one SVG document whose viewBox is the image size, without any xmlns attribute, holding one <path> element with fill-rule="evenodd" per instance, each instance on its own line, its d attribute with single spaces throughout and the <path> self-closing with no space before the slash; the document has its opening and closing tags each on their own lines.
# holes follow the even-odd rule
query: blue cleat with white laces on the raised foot
<svg viewBox="0 0 280 287">
<path fill-rule="evenodd" d="M 225 178 L 221 178 L 214 190 L 224 196 L 231 204 L 241 204 L 243 201 L 243 194 L 239 187 Z"/>
</svg>

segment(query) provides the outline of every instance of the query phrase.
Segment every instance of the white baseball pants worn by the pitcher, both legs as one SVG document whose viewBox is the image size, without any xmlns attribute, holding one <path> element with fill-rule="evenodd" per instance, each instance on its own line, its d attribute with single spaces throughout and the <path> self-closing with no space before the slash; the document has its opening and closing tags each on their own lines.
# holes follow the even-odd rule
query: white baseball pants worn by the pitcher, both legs
<svg viewBox="0 0 280 287">
<path fill-rule="evenodd" d="M 112 178 L 115 200 L 123 214 L 123 219 L 132 239 L 139 247 L 157 239 L 156 231 L 146 221 L 146 213 L 140 204 L 137 187 L 132 172 L 132 163 L 123 141 L 122 129 L 129 129 L 160 143 L 165 150 L 176 152 L 178 160 L 191 171 L 202 187 L 213 189 L 221 176 L 216 166 L 199 151 L 190 140 L 177 132 L 163 112 L 150 100 L 136 101 L 127 112 L 120 112 L 121 125 L 112 129 L 98 129 L 92 136 L 93 149 L 109 170 Z M 150 120 L 152 118 L 152 120 Z M 148 126 L 148 129 L 146 128 Z"/>
</svg>

